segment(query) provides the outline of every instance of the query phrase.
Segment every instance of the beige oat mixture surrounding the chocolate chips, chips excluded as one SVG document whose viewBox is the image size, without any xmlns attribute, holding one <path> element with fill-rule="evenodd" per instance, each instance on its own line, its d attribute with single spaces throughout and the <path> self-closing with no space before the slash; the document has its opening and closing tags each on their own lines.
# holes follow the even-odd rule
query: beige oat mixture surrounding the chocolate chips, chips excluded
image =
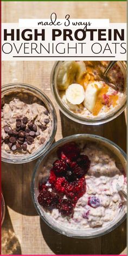
<svg viewBox="0 0 128 256">
<path fill-rule="evenodd" d="M 25 142 L 27 144 L 27 150 L 11 150 L 12 145 L 10 148 L 10 143 L 5 143 L 5 138 L 8 137 L 8 133 L 5 132 L 5 127 L 9 127 L 10 130 L 14 131 L 16 129 L 16 119 L 23 119 L 24 117 L 28 118 L 27 124 L 34 120 L 34 125 L 37 128 L 37 133 L 35 133 L 37 135 L 34 136 L 34 141 L 32 143 L 29 142 L 28 144 Z M 9 104 L 4 104 L 2 108 L 2 152 L 15 155 L 33 153 L 34 151 L 38 150 L 43 144 L 47 143 L 50 136 L 51 126 L 52 119 L 46 107 L 37 103 L 26 104 L 20 99 L 14 98 L 10 101 Z M 27 137 L 25 130 L 23 132 L 25 133 L 25 137 Z M 33 133 L 34 132 L 32 132 L 32 137 Z M 15 136 L 12 135 L 12 137 Z M 27 141 L 27 139 L 23 139 Z"/>
</svg>

